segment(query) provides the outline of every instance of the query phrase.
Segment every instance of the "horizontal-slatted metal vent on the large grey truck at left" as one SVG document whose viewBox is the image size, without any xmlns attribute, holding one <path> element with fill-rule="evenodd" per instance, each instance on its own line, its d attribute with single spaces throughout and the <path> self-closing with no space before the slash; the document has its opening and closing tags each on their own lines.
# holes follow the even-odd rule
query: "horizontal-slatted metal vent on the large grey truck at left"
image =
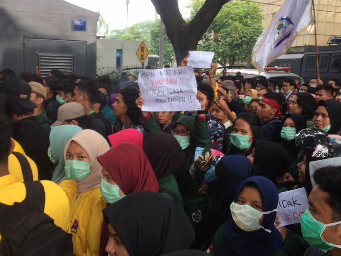
<svg viewBox="0 0 341 256">
<path fill-rule="evenodd" d="M 38 53 L 41 76 L 47 76 L 51 69 L 59 69 L 63 74 L 73 73 L 74 54 Z"/>
</svg>

